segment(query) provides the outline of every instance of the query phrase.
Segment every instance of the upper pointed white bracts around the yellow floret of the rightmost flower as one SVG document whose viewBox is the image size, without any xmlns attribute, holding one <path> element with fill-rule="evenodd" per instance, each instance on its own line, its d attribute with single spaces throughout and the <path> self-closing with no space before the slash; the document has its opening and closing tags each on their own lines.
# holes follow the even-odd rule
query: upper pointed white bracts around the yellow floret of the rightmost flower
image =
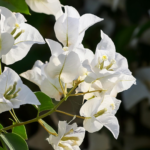
<svg viewBox="0 0 150 150">
<path fill-rule="evenodd" d="M 96 48 L 95 57 L 91 62 L 93 71 L 107 70 L 108 72 L 120 72 L 131 75 L 127 59 L 116 53 L 113 41 L 103 31 L 101 31 L 101 38 L 102 40 Z"/>
</svg>

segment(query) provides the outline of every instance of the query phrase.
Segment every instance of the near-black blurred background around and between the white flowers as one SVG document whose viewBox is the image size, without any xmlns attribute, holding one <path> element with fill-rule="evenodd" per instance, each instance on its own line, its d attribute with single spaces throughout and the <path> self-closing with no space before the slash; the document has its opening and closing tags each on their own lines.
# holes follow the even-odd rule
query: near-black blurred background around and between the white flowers
<svg viewBox="0 0 150 150">
<path fill-rule="evenodd" d="M 129 68 L 134 73 L 150 65 L 150 0 L 61 0 L 63 5 L 75 7 L 79 13 L 93 13 L 103 22 L 97 23 L 86 31 L 83 44 L 86 48 L 95 52 L 100 41 L 100 30 L 108 34 L 115 43 L 116 51 L 125 56 L 129 62 Z M 116 5 L 117 4 L 117 5 Z M 57 40 L 54 33 L 55 18 L 52 15 L 31 12 L 25 15 L 29 24 L 39 30 L 44 38 Z M 18 74 L 32 68 L 36 60 L 48 61 L 50 49 L 47 44 L 34 45 L 28 55 L 21 61 L 10 65 Z M 4 65 L 3 65 L 4 67 Z M 32 91 L 39 88 L 23 79 L 23 82 Z M 142 91 L 141 91 L 142 92 Z M 122 100 L 122 94 L 118 94 Z M 82 103 L 82 97 L 69 99 L 61 110 L 77 114 Z M 21 106 L 16 109 L 16 114 L 21 121 L 36 117 L 36 110 L 31 105 Z M 4 126 L 11 124 L 8 112 L 0 115 L 0 123 Z M 115 140 L 112 134 L 105 128 L 98 134 L 86 133 L 81 149 L 88 150 L 150 150 L 150 107 L 147 98 L 141 99 L 131 109 L 125 109 L 122 102 L 117 113 L 120 124 L 120 135 Z M 44 120 L 57 130 L 58 120 L 71 120 L 72 118 L 53 114 Z M 75 120 L 82 126 L 82 120 Z M 32 123 L 26 126 L 28 144 L 31 150 L 50 150 L 46 137 L 48 133 L 38 125 Z"/>
</svg>

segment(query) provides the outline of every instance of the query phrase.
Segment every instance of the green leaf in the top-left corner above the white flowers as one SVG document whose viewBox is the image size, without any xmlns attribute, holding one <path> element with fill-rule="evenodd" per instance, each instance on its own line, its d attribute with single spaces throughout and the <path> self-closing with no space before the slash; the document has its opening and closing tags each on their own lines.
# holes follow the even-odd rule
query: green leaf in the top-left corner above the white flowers
<svg viewBox="0 0 150 150">
<path fill-rule="evenodd" d="M 0 0 L 0 6 L 4 6 L 13 12 L 20 12 L 30 15 L 25 0 Z"/>
</svg>

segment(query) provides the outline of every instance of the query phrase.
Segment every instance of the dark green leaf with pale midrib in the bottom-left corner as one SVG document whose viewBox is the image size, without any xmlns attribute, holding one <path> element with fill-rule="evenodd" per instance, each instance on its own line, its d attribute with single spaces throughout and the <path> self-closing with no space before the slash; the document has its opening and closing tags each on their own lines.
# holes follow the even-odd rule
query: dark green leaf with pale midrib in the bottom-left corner
<svg viewBox="0 0 150 150">
<path fill-rule="evenodd" d="M 15 133 L 3 133 L 0 137 L 10 150 L 29 150 L 26 141 Z"/>
</svg>

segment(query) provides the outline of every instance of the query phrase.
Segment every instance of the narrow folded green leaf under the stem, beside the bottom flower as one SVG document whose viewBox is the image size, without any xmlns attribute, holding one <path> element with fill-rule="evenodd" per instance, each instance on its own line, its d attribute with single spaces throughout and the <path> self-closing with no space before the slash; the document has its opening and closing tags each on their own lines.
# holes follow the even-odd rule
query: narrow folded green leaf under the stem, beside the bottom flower
<svg viewBox="0 0 150 150">
<path fill-rule="evenodd" d="M 56 131 L 51 126 L 49 126 L 44 120 L 40 119 L 38 122 L 45 130 L 47 130 L 48 133 L 53 133 L 53 135 L 57 135 Z"/>
</svg>

